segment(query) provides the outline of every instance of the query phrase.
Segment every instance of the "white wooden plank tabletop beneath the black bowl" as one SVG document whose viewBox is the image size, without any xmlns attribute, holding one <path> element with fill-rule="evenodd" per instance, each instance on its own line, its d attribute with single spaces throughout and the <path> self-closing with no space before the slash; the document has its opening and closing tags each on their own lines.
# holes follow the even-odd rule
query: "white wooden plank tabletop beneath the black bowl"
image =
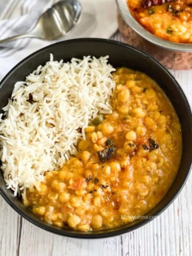
<svg viewBox="0 0 192 256">
<path fill-rule="evenodd" d="M 114 37 L 122 41 L 117 33 Z M 192 70 L 171 71 L 192 106 Z M 192 150 L 192 149 L 191 149 Z M 107 239 L 53 235 L 21 218 L 0 197 L 0 256 L 192 255 L 192 177 L 159 217 L 129 234 Z"/>
</svg>

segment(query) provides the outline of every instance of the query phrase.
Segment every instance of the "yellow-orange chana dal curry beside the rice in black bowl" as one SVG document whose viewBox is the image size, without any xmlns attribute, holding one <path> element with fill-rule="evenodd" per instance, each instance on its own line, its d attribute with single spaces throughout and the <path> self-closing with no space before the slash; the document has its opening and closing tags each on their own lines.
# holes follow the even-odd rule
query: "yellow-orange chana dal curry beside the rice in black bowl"
<svg viewBox="0 0 192 256">
<path fill-rule="evenodd" d="M 170 188 L 180 164 L 179 119 L 147 75 L 113 74 L 113 112 L 86 127 L 77 154 L 27 190 L 23 203 L 39 218 L 79 231 L 110 229 L 151 210 Z"/>
</svg>

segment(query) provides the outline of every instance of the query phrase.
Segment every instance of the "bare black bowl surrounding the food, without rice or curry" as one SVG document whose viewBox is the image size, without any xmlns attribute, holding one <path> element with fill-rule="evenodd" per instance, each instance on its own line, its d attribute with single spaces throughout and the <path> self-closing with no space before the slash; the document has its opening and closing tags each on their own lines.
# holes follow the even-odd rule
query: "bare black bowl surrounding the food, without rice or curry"
<svg viewBox="0 0 192 256">
<path fill-rule="evenodd" d="M 36 226 L 47 231 L 63 236 L 103 238 L 120 235 L 145 225 L 151 219 L 162 213 L 166 207 L 173 202 L 185 184 L 190 171 L 192 161 L 192 115 L 185 94 L 169 71 L 146 53 L 115 41 L 83 38 L 47 46 L 22 60 L 0 83 L 0 109 L 6 105 L 7 100 L 11 96 L 15 82 L 25 80 L 25 77 L 31 73 L 31 71 L 36 69 L 37 66 L 44 65 L 45 62 L 49 60 L 50 53 L 53 53 L 55 60 L 63 59 L 64 61 L 68 61 L 73 57 L 82 58 L 84 55 L 94 55 L 95 57 L 109 55 L 109 62 L 114 67 L 124 66 L 140 70 L 153 78 L 171 100 L 172 105 L 177 111 L 182 127 L 183 151 L 177 177 L 162 201 L 145 215 L 145 219 L 135 220 L 129 225 L 115 229 L 87 233 L 51 226 L 40 220 L 36 215 L 26 209 L 19 198 L 13 196 L 10 189 L 6 189 L 2 174 L 0 175 L 1 195 L 15 211 L 31 223 L 34 223 Z"/>
</svg>

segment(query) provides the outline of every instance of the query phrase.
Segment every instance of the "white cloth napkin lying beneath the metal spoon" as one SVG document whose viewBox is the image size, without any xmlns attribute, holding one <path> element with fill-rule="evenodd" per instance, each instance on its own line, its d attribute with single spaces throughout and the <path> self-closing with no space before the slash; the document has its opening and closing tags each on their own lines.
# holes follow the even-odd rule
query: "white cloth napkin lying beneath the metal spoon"
<svg viewBox="0 0 192 256">
<path fill-rule="evenodd" d="M 63 41 L 81 37 L 109 38 L 117 30 L 117 10 L 115 0 L 79 0 L 83 7 L 81 21 Z M 56 0 L 1 0 L 0 1 L 0 39 L 26 33 L 31 29 L 39 15 Z M 19 39 L 0 45 L 0 80 L 19 61 L 58 41 L 41 39 Z"/>
</svg>

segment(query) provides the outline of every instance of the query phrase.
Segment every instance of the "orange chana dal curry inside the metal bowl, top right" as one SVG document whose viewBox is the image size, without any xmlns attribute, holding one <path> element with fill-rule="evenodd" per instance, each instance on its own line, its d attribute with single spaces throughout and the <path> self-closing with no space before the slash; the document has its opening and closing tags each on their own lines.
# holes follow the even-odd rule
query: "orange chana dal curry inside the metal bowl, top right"
<svg viewBox="0 0 192 256">
<path fill-rule="evenodd" d="M 127 0 L 133 17 L 148 31 L 176 43 L 192 43 L 191 0 Z"/>
</svg>

